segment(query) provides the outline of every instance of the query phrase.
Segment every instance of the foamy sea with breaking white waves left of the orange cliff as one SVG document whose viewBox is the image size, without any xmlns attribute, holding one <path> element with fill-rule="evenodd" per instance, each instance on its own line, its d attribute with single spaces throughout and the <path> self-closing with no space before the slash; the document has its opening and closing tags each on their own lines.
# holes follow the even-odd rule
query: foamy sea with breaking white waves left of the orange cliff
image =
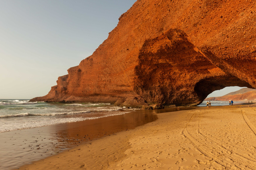
<svg viewBox="0 0 256 170">
<path fill-rule="evenodd" d="M 98 119 L 134 110 L 108 103 L 64 104 L 0 99 L 0 132 Z"/>
</svg>

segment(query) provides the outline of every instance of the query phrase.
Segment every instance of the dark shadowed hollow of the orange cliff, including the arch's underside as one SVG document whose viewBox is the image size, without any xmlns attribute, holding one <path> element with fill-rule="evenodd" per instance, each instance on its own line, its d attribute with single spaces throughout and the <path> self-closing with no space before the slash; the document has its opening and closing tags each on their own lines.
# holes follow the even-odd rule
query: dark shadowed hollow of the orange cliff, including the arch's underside
<svg viewBox="0 0 256 170">
<path fill-rule="evenodd" d="M 177 29 L 146 41 L 135 68 L 135 92 L 149 104 L 198 105 L 213 91 L 227 86 L 252 88 L 196 50 Z"/>
</svg>

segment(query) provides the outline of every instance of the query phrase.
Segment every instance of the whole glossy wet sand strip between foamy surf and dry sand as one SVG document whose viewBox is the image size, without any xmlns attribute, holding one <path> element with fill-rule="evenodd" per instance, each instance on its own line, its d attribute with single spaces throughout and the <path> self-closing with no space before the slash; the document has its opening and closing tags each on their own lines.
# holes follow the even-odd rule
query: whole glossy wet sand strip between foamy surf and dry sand
<svg viewBox="0 0 256 170">
<path fill-rule="evenodd" d="M 155 121 L 152 111 L 0 133 L 0 169 L 9 170 L 52 154 Z"/>
</svg>

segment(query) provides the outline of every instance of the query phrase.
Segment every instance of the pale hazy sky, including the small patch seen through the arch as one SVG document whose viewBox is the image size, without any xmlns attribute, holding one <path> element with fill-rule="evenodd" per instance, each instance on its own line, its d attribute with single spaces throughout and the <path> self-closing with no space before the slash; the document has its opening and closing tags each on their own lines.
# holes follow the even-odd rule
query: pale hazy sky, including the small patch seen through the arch
<svg viewBox="0 0 256 170">
<path fill-rule="evenodd" d="M 0 0 L 0 99 L 46 95 L 107 39 L 135 1 Z"/>
</svg>

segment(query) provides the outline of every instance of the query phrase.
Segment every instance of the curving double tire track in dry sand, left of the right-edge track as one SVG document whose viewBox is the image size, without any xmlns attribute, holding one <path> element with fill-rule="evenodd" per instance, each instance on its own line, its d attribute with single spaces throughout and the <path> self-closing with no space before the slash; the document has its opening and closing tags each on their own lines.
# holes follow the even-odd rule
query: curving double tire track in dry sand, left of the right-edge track
<svg viewBox="0 0 256 170">
<path fill-rule="evenodd" d="M 200 123 L 200 111 L 191 111 L 194 114 L 191 116 L 190 120 L 187 122 L 186 127 L 183 129 L 182 133 L 185 137 L 187 137 L 191 143 L 206 157 L 212 159 L 216 163 L 220 164 L 225 168 L 229 168 L 231 165 L 235 166 L 239 169 L 256 169 L 255 168 L 255 159 L 250 158 L 246 155 L 239 154 L 238 152 L 234 153 L 232 150 L 228 149 L 230 146 L 223 144 L 222 142 L 215 140 L 212 136 L 207 135 L 204 130 L 201 129 Z M 197 125 L 196 125 L 196 132 L 199 132 L 204 138 L 199 138 L 194 134 L 190 127 L 191 122 L 198 117 Z M 206 140 L 210 139 L 212 141 L 211 145 Z M 205 149 L 206 147 L 206 149 Z M 234 147 L 234 145 L 232 145 Z M 208 151 L 208 150 L 211 150 Z M 232 153 L 232 154 L 231 154 Z M 221 159 L 220 159 L 220 158 Z M 224 159 L 229 159 L 230 162 L 233 163 L 224 163 Z"/>
</svg>

